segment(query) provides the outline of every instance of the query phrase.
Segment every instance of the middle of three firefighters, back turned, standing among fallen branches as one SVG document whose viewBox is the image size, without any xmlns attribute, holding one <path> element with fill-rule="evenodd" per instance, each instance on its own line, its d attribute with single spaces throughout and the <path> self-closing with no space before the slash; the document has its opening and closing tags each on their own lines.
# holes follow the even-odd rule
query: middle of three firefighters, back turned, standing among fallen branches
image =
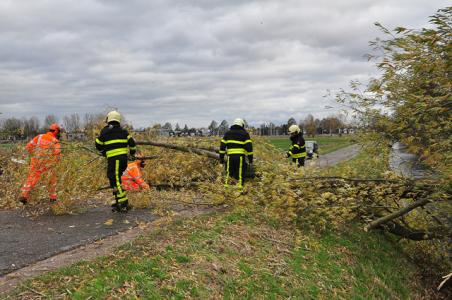
<svg viewBox="0 0 452 300">
<path fill-rule="evenodd" d="M 227 155 L 226 160 L 225 155 Z M 245 157 L 248 158 L 249 164 L 253 163 L 253 142 L 249 133 L 245 130 L 245 122 L 242 119 L 235 119 L 220 144 L 220 162 L 226 163 L 225 187 L 229 186 L 229 178 L 231 177 L 237 180 L 238 188 L 243 188 L 247 167 Z"/>
</svg>

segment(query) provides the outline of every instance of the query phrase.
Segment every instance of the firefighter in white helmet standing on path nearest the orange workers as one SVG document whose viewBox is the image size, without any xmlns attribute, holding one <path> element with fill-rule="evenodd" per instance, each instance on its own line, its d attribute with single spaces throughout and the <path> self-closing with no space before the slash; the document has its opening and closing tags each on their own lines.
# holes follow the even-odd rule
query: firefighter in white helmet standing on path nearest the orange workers
<svg viewBox="0 0 452 300">
<path fill-rule="evenodd" d="M 134 157 L 135 141 L 126 129 L 121 127 L 121 115 L 113 110 L 107 114 L 105 126 L 96 139 L 96 149 L 107 158 L 107 177 L 115 197 L 111 205 L 113 211 L 126 212 L 129 201 L 121 186 L 121 175 L 127 169 L 127 154 Z"/>
</svg>

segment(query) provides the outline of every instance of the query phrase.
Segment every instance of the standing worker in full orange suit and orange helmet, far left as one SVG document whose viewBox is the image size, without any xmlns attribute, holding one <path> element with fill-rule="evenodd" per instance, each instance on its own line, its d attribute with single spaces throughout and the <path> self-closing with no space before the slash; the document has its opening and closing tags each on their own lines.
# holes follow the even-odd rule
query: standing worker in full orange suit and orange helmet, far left
<svg viewBox="0 0 452 300">
<path fill-rule="evenodd" d="M 60 126 L 58 124 L 52 124 L 47 133 L 35 136 L 27 144 L 26 149 L 31 156 L 31 163 L 27 181 L 21 188 L 21 197 L 19 198 L 19 201 L 22 202 L 22 204 L 28 203 L 31 190 L 44 173 L 48 174 L 49 182 L 47 190 L 49 192 L 50 202 L 55 202 L 57 200 L 56 165 L 60 161 L 61 156 L 61 146 L 59 142 L 60 132 Z"/>
</svg>

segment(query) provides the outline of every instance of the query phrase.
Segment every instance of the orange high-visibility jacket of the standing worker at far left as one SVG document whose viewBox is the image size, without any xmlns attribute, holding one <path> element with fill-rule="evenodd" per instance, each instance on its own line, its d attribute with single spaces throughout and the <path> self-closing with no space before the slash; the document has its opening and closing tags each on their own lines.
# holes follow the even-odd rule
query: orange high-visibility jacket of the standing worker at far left
<svg viewBox="0 0 452 300">
<path fill-rule="evenodd" d="M 51 132 L 35 136 L 25 148 L 31 155 L 32 164 L 38 161 L 53 164 L 58 162 L 61 155 L 60 142 Z"/>
</svg>

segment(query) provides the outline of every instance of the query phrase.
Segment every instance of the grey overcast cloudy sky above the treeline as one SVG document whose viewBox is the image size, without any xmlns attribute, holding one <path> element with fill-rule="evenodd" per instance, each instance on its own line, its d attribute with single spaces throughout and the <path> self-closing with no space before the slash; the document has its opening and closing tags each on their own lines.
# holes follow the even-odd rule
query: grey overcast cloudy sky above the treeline
<svg viewBox="0 0 452 300">
<path fill-rule="evenodd" d="M 323 117 L 368 41 L 442 0 L 0 0 L 0 119 L 117 107 L 135 126 Z"/>
</svg>

